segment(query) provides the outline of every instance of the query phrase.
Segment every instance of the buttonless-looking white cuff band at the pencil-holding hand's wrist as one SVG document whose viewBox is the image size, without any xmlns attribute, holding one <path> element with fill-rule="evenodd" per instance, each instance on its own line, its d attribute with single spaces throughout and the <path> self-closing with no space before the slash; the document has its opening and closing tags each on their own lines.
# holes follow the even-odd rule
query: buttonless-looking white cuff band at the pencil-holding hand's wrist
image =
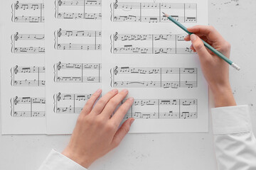
<svg viewBox="0 0 256 170">
<path fill-rule="evenodd" d="M 212 108 L 211 113 L 213 118 L 213 134 L 215 135 L 252 131 L 248 106 Z"/>
</svg>

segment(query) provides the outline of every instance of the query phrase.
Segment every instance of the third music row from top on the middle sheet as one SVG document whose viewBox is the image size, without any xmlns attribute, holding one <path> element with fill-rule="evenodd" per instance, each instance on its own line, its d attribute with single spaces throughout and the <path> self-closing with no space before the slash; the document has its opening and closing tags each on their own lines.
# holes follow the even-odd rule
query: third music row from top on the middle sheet
<svg viewBox="0 0 256 170">
<path fill-rule="evenodd" d="M 61 63 L 54 65 L 54 81 L 58 83 L 101 83 L 100 63 Z"/>
</svg>

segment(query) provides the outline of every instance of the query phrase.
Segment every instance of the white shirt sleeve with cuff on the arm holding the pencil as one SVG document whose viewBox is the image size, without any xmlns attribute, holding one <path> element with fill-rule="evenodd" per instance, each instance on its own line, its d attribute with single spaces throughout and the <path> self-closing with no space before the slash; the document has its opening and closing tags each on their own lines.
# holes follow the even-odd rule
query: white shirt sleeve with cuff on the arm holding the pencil
<svg viewBox="0 0 256 170">
<path fill-rule="evenodd" d="M 213 108 L 218 170 L 255 170 L 256 139 L 248 106 Z"/>
</svg>

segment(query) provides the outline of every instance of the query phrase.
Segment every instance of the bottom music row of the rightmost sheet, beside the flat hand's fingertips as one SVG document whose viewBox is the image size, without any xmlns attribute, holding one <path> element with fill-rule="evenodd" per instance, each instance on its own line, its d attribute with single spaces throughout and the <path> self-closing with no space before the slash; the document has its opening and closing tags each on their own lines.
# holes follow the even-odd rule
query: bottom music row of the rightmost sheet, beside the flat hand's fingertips
<svg viewBox="0 0 256 170">
<path fill-rule="evenodd" d="M 195 119 L 197 106 L 197 99 L 136 99 L 124 119 Z"/>
</svg>

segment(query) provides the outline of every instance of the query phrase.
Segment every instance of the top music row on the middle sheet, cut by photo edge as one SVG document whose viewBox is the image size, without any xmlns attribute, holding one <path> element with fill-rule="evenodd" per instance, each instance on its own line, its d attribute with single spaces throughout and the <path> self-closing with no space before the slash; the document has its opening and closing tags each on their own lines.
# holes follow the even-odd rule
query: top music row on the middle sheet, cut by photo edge
<svg viewBox="0 0 256 170">
<path fill-rule="evenodd" d="M 55 18 L 101 20 L 101 0 L 55 0 Z M 72 6 L 72 8 L 71 8 Z"/>
</svg>

